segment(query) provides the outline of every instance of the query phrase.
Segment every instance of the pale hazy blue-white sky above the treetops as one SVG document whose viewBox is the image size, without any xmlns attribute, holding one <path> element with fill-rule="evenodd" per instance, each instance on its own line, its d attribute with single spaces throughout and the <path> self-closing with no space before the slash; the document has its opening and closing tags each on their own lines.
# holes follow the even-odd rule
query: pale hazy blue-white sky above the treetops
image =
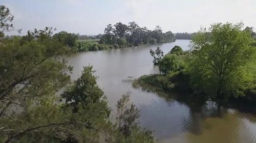
<svg viewBox="0 0 256 143">
<path fill-rule="evenodd" d="M 14 27 L 22 28 L 20 35 L 46 26 L 97 35 L 108 24 L 132 21 L 174 33 L 193 33 L 227 21 L 256 27 L 256 0 L 0 0 L 0 5 L 10 9 Z"/>
</svg>

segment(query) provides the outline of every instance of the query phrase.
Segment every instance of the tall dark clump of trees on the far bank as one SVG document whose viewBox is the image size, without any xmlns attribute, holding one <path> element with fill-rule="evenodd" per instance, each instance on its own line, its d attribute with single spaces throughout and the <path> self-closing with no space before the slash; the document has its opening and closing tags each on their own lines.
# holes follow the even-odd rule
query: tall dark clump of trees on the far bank
<svg viewBox="0 0 256 143">
<path fill-rule="evenodd" d="M 172 32 L 168 31 L 162 33 L 160 26 L 156 26 L 154 31 L 150 31 L 146 27 L 140 27 L 133 21 L 128 25 L 121 22 L 116 23 L 114 27 L 111 24 L 107 25 L 100 43 L 110 45 L 118 44 L 120 46 L 119 39 L 126 39 L 126 45 L 131 46 L 139 46 L 140 44 L 160 44 L 176 40 Z"/>
</svg>

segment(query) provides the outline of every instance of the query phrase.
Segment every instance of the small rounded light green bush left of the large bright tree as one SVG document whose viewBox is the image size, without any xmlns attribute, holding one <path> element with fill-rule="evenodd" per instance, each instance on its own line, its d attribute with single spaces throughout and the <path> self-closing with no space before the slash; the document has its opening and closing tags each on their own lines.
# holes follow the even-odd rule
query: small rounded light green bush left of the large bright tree
<svg viewBox="0 0 256 143">
<path fill-rule="evenodd" d="M 159 71 L 163 74 L 176 72 L 180 68 L 178 56 L 176 54 L 166 54 L 158 63 Z"/>
</svg>

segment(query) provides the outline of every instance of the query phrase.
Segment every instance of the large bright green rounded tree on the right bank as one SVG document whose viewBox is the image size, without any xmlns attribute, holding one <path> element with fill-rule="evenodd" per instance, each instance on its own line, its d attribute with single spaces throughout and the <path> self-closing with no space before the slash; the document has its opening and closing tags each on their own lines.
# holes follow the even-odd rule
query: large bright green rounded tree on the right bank
<svg viewBox="0 0 256 143">
<path fill-rule="evenodd" d="M 242 96 L 251 83 L 244 70 L 254 60 L 255 49 L 243 23 L 216 23 L 202 28 L 192 40 L 191 82 L 212 98 Z"/>
</svg>

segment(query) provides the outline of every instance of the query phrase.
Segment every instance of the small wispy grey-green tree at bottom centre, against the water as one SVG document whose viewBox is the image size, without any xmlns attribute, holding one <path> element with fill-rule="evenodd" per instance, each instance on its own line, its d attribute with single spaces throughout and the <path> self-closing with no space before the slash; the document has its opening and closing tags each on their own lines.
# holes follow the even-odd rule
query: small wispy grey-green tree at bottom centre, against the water
<svg viewBox="0 0 256 143">
<path fill-rule="evenodd" d="M 116 106 L 116 130 L 106 139 L 107 142 L 154 142 L 152 131 L 138 126 L 139 109 L 130 103 L 130 93 L 123 94 Z"/>
</svg>

